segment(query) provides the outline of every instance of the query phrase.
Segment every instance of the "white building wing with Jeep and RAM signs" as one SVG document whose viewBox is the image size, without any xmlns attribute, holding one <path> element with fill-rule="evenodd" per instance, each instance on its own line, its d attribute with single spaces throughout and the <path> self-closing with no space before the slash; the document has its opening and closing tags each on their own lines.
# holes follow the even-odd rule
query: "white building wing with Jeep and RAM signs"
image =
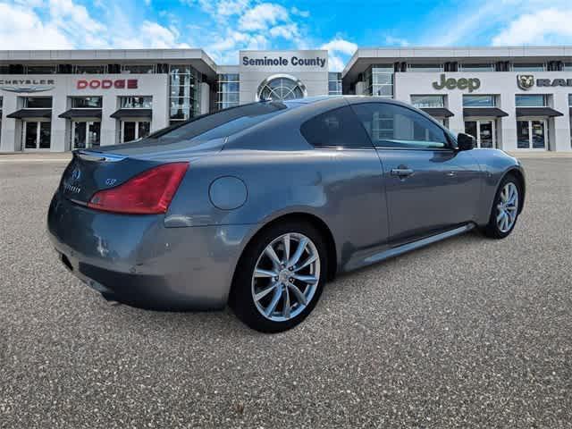
<svg viewBox="0 0 572 429">
<path fill-rule="evenodd" d="M 343 87 L 415 105 L 479 147 L 572 150 L 572 46 L 358 49 Z"/>
</svg>

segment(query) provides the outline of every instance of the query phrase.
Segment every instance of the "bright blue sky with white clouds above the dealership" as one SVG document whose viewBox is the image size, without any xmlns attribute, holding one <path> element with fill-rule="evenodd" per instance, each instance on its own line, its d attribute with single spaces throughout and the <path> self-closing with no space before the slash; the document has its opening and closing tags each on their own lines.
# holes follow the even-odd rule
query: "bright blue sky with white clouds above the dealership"
<svg viewBox="0 0 572 429">
<path fill-rule="evenodd" d="M 572 45 L 572 0 L 0 0 L 3 49 Z"/>
</svg>

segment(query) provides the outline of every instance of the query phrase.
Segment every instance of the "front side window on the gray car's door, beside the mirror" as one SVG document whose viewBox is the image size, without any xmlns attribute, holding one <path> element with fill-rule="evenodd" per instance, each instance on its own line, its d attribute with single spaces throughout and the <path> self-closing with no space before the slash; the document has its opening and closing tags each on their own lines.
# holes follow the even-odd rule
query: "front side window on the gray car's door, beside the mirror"
<svg viewBox="0 0 572 429">
<path fill-rule="evenodd" d="M 353 105 L 375 147 L 443 148 L 449 143 L 437 124 L 400 105 L 364 103 Z"/>
</svg>

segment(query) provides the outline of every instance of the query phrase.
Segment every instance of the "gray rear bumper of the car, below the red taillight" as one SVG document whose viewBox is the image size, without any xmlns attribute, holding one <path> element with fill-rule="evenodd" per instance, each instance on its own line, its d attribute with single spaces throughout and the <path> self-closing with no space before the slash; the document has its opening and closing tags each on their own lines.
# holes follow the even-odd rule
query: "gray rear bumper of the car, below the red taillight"
<svg viewBox="0 0 572 429">
<path fill-rule="evenodd" d="M 63 264 L 91 288 L 136 307 L 224 307 L 254 225 L 165 228 L 163 215 L 99 212 L 56 193 L 47 215 Z"/>
</svg>

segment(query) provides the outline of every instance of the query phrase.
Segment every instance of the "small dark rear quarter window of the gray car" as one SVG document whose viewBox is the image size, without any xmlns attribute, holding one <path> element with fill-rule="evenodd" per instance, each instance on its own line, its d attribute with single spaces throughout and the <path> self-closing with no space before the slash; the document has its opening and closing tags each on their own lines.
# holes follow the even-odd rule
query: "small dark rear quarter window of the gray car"
<svg viewBox="0 0 572 429">
<path fill-rule="evenodd" d="M 300 132 L 315 147 L 372 148 L 366 130 L 349 106 L 316 115 L 302 124 Z"/>
</svg>

